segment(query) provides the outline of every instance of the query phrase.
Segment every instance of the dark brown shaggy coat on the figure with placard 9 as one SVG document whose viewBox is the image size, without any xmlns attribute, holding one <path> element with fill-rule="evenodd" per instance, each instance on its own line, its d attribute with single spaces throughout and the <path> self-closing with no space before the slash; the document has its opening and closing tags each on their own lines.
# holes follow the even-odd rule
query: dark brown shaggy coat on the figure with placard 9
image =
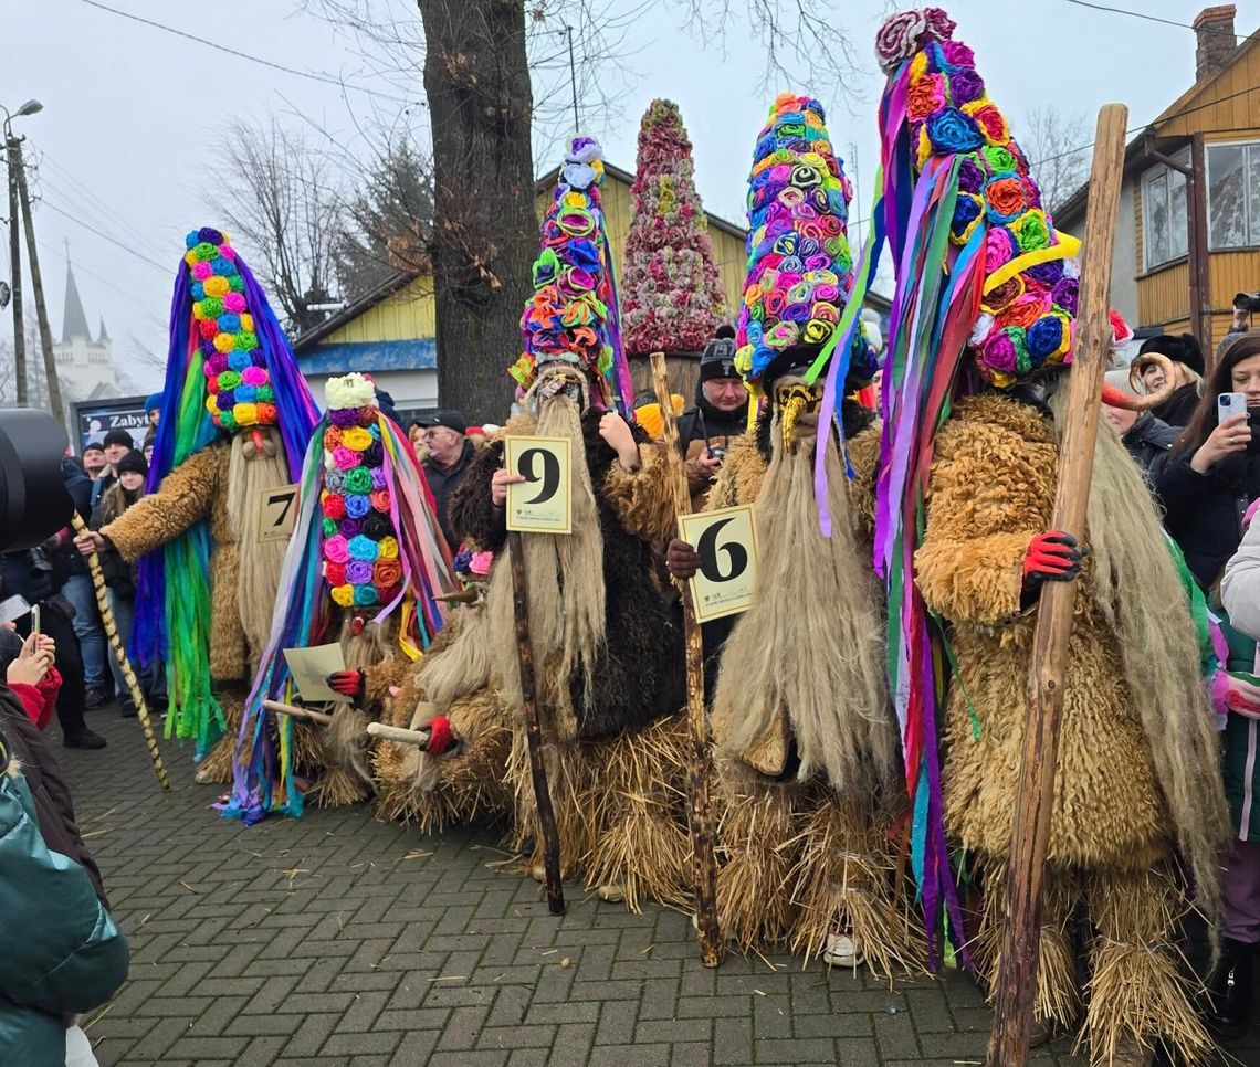
<svg viewBox="0 0 1260 1067">
<path fill-rule="evenodd" d="M 685 693 L 682 626 L 667 601 L 654 548 L 674 527 L 668 467 L 655 448 L 644 447 L 648 435 L 633 426 L 643 467 L 626 471 L 600 436 L 602 416 L 593 408 L 583 412 L 582 432 L 604 534 L 607 640 L 600 651 L 593 707 L 578 712 L 580 741 L 641 729 L 678 710 Z M 490 503 L 490 479 L 503 466 L 503 438 L 528 432 L 532 422 L 509 422 L 476 452 L 451 496 L 451 528 L 481 549 L 499 552 L 507 543 L 504 515 Z M 570 679 L 575 708 L 582 708 L 583 687 L 577 670 Z"/>
</svg>

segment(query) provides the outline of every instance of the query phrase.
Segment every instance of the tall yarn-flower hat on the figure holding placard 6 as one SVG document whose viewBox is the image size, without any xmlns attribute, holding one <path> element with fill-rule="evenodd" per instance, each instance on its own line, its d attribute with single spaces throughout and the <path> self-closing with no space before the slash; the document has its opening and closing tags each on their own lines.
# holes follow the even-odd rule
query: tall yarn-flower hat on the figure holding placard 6
<svg viewBox="0 0 1260 1067">
<path fill-rule="evenodd" d="M 753 392 L 789 353 L 805 351 L 813 364 L 809 377 L 816 378 L 842 340 L 842 362 L 854 385 L 876 372 L 861 328 L 839 329 L 853 286 L 853 188 L 825 122 L 816 100 L 782 93 L 757 136 L 748 180 L 747 278 L 736 324 L 736 367 Z M 856 321 L 850 316 L 845 326 Z"/>
</svg>

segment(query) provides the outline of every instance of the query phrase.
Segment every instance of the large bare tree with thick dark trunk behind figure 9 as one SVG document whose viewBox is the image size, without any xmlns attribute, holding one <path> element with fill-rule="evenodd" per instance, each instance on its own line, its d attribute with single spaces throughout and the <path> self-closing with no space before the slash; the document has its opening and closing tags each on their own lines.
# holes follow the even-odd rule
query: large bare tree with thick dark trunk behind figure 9
<svg viewBox="0 0 1260 1067">
<path fill-rule="evenodd" d="M 437 305 L 438 397 L 474 419 L 501 418 L 505 364 L 520 345 L 520 309 L 538 251 L 532 136 L 595 126 L 615 98 L 625 33 L 658 0 L 615 14 L 611 0 L 299 0 L 370 45 L 364 63 L 406 87 L 423 55 L 433 150 L 431 257 Z M 766 50 L 766 78 L 813 77 L 844 93 L 856 67 L 828 0 L 665 0 L 706 43 L 737 14 Z M 622 77 L 625 77 L 622 74 Z M 537 79 L 537 81 L 536 81 Z M 402 89 L 403 92 L 406 88 Z M 554 145 L 554 139 L 551 141 Z M 551 155 L 558 156 L 554 149 Z"/>
</svg>

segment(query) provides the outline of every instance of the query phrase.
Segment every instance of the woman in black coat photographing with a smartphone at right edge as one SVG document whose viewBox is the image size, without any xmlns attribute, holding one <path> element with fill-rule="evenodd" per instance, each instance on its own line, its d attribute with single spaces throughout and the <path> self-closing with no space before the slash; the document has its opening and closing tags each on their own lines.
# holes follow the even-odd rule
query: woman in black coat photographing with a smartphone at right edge
<svg viewBox="0 0 1260 1067">
<path fill-rule="evenodd" d="M 1249 416 L 1217 422 L 1217 397 L 1245 393 L 1249 414 L 1260 408 L 1260 333 L 1226 350 L 1172 455 L 1159 465 L 1155 488 L 1168 533 L 1181 545 L 1194 579 L 1210 590 L 1242 539 L 1242 514 L 1260 496 L 1260 440 Z"/>
</svg>

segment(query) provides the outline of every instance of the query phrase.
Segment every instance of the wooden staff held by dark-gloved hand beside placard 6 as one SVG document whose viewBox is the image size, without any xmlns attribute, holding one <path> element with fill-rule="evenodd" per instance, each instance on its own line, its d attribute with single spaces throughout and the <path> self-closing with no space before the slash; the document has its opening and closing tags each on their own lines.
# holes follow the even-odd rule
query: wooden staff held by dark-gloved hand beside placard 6
<svg viewBox="0 0 1260 1067">
<path fill-rule="evenodd" d="M 665 377 L 665 357 L 651 354 L 651 379 L 660 404 L 665 462 L 673 470 L 674 510 L 685 515 L 692 510 L 687 489 L 687 469 L 678 446 L 678 421 L 669 398 L 669 379 Z M 690 806 L 688 821 L 692 828 L 692 852 L 696 855 L 696 930 L 701 941 L 704 966 L 716 967 L 722 962 L 722 937 L 717 923 L 717 859 L 713 855 L 713 816 L 708 804 L 709 743 L 708 719 L 704 714 L 704 645 L 701 626 L 692 606 L 692 588 L 683 583 L 683 640 L 687 646 L 687 721 L 692 728 L 692 758 L 688 766 Z"/>
</svg>

